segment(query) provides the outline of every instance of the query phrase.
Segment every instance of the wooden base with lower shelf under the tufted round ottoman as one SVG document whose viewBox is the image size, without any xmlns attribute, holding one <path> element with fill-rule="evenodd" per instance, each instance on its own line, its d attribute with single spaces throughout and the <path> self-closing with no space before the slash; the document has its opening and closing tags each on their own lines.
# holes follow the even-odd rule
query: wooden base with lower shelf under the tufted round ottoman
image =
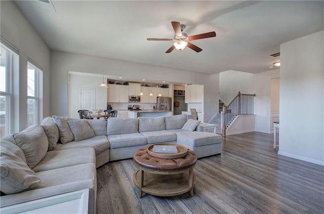
<svg viewBox="0 0 324 214">
<path fill-rule="evenodd" d="M 134 184 L 139 188 L 139 197 L 143 192 L 157 196 L 174 196 L 190 191 L 193 196 L 193 186 L 197 178 L 193 166 L 176 172 L 157 172 L 142 170 L 140 167 L 133 176 Z"/>
</svg>

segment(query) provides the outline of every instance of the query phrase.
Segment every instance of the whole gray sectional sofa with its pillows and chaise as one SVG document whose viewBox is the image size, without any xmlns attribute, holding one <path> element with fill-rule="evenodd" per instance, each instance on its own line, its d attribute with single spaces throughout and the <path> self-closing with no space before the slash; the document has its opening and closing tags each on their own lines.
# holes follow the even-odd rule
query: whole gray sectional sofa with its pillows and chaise
<svg viewBox="0 0 324 214">
<path fill-rule="evenodd" d="M 0 206 L 89 189 L 89 213 L 96 207 L 96 168 L 155 143 L 177 143 L 197 157 L 221 153 L 222 136 L 202 132 L 186 115 L 109 118 L 47 117 L 40 125 L 0 142 Z"/>
</svg>

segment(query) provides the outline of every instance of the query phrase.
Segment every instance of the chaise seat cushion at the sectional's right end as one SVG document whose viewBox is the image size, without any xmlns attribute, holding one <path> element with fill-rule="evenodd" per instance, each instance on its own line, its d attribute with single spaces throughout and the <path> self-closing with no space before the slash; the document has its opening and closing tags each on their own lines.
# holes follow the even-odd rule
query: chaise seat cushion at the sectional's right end
<svg viewBox="0 0 324 214">
<path fill-rule="evenodd" d="M 209 144 L 221 143 L 222 136 L 209 132 L 188 132 L 177 135 L 177 143 L 191 147 L 205 146 Z"/>
</svg>

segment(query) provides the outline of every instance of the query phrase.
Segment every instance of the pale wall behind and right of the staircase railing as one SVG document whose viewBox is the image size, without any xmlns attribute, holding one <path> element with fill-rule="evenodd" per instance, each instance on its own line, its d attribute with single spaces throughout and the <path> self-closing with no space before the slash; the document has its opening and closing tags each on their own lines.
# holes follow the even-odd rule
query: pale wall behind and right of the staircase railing
<svg viewBox="0 0 324 214">
<path fill-rule="evenodd" d="M 219 75 L 220 98 L 227 104 L 238 92 L 256 94 L 254 98 L 255 131 L 271 133 L 271 79 L 279 77 L 279 69 L 260 73 L 225 71 Z"/>
</svg>

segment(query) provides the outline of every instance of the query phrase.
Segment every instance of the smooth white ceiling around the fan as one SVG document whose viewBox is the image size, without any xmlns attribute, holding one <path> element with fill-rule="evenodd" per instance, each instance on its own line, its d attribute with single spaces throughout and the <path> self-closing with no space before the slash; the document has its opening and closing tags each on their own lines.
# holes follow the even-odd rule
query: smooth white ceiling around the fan
<svg viewBox="0 0 324 214">
<path fill-rule="evenodd" d="M 56 12 L 16 4 L 51 50 L 209 74 L 271 70 L 280 44 L 324 29 L 323 1 L 53 1 Z M 200 53 L 165 54 L 171 41 L 146 38 L 173 38 L 171 21 L 217 36 L 192 41 Z"/>
</svg>

